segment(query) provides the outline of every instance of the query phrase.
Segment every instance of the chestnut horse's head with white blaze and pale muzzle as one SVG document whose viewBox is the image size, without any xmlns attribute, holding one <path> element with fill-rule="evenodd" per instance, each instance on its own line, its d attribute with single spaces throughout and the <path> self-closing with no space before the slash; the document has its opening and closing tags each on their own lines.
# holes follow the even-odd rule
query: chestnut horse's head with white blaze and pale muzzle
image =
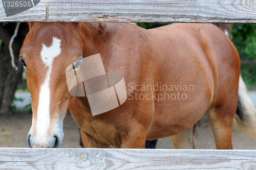
<svg viewBox="0 0 256 170">
<path fill-rule="evenodd" d="M 59 148 L 71 99 L 66 68 L 83 54 L 79 27 L 76 23 L 35 22 L 29 28 L 20 50 L 32 98 L 27 142 L 30 148 Z"/>
</svg>

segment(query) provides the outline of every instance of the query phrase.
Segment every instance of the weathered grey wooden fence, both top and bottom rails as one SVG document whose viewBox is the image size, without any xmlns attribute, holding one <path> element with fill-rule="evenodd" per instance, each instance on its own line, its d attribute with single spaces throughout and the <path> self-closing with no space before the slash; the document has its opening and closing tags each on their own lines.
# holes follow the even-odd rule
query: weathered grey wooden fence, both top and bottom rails
<svg viewBox="0 0 256 170">
<path fill-rule="evenodd" d="M 0 21 L 256 23 L 255 0 L 32 2 L 33 8 L 7 17 L 10 9 L 6 7 L 6 12 L 4 3 L 8 0 L 3 0 Z M 253 150 L 0 148 L 0 169 L 255 169 L 255 166 Z"/>
</svg>

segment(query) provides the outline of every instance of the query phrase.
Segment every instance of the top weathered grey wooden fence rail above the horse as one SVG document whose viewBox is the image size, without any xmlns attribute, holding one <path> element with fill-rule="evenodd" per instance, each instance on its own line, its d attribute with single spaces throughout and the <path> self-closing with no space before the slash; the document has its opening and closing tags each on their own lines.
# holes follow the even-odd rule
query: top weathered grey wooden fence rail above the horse
<svg viewBox="0 0 256 170">
<path fill-rule="evenodd" d="M 48 20 L 256 23 L 256 0 L 41 0 L 28 11 L 9 17 L 0 3 L 0 21 Z"/>
</svg>

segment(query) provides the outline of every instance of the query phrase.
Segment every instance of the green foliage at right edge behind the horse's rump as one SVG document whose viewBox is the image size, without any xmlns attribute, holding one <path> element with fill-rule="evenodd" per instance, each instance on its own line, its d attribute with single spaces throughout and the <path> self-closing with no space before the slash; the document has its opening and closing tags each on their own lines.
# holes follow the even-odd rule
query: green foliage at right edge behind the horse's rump
<svg viewBox="0 0 256 170">
<path fill-rule="evenodd" d="M 232 24 L 230 32 L 242 60 L 256 60 L 256 24 Z M 242 65 L 241 75 L 247 86 L 256 86 L 256 65 Z"/>
</svg>

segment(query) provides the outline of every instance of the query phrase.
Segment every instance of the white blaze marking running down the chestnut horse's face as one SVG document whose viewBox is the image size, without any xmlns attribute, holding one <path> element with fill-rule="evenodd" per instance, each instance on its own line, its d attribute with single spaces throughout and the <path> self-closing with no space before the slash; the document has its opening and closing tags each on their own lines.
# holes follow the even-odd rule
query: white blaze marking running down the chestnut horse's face
<svg viewBox="0 0 256 170">
<path fill-rule="evenodd" d="M 39 93 L 39 102 L 37 108 L 37 120 L 36 120 L 36 136 L 35 144 L 45 144 L 47 142 L 47 131 L 50 125 L 50 75 L 52 71 L 52 62 L 57 57 L 60 50 L 60 39 L 53 37 L 51 46 L 47 47 L 42 44 L 41 59 L 45 63 L 47 74 L 44 83 L 41 84 Z"/>
</svg>

